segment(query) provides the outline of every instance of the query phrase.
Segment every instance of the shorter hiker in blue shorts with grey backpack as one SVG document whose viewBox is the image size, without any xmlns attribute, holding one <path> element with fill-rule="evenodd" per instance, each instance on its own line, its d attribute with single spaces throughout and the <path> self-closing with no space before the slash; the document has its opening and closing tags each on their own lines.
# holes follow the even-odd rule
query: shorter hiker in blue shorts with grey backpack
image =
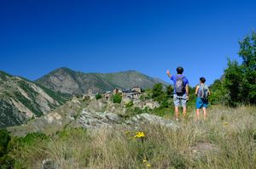
<svg viewBox="0 0 256 169">
<path fill-rule="evenodd" d="M 196 119 L 199 120 L 200 109 L 202 108 L 204 114 L 204 120 L 207 120 L 207 107 L 208 107 L 208 96 L 210 95 L 210 90 L 205 84 L 205 77 L 200 78 L 200 84 L 195 88 L 196 99 Z"/>
</svg>

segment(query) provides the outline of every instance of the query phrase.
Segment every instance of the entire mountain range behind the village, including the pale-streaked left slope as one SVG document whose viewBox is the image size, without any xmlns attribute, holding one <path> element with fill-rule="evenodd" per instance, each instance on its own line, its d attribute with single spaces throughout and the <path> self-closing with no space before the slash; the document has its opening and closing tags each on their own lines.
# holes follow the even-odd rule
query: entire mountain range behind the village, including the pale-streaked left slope
<svg viewBox="0 0 256 169">
<path fill-rule="evenodd" d="M 0 128 L 26 123 L 66 103 L 74 94 L 104 93 L 118 87 L 148 88 L 166 82 L 135 70 L 83 73 L 58 68 L 35 82 L 0 71 Z"/>
</svg>

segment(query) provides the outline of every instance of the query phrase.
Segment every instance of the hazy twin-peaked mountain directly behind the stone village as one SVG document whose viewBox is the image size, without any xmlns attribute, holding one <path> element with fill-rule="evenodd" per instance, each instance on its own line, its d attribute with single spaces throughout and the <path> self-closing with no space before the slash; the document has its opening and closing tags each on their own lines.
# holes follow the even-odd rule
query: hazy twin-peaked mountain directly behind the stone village
<svg viewBox="0 0 256 169">
<path fill-rule="evenodd" d="M 59 68 L 36 81 L 55 92 L 66 94 L 84 94 L 91 90 L 92 93 L 103 93 L 113 90 L 115 87 L 127 89 L 134 86 L 148 88 L 156 83 L 166 82 L 150 76 L 143 75 L 135 70 L 121 71 L 117 73 L 83 73 Z"/>
</svg>

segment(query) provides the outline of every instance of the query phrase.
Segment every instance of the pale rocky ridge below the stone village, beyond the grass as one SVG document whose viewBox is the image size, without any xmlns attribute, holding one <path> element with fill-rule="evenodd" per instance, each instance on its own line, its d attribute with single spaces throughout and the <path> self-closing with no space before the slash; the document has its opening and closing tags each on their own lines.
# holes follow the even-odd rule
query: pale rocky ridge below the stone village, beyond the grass
<svg viewBox="0 0 256 169">
<path fill-rule="evenodd" d="M 154 124 L 177 128 L 177 123 L 174 121 L 148 113 L 129 115 L 130 111 L 132 109 L 125 108 L 125 104 L 107 103 L 104 99 L 73 98 L 49 114 L 29 121 L 22 127 L 9 127 L 9 131 L 16 136 L 24 136 L 29 132 L 52 134 L 67 127 L 95 130 L 101 127 L 137 128 L 143 124 Z"/>
</svg>

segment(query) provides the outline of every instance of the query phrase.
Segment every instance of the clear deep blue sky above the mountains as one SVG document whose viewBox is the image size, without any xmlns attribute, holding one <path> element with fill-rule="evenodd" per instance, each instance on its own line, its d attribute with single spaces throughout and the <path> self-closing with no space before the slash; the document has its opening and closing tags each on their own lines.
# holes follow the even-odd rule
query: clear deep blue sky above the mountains
<svg viewBox="0 0 256 169">
<path fill-rule="evenodd" d="M 35 80 L 66 66 L 212 83 L 256 27 L 256 1 L 0 0 L 0 70 Z"/>
</svg>

